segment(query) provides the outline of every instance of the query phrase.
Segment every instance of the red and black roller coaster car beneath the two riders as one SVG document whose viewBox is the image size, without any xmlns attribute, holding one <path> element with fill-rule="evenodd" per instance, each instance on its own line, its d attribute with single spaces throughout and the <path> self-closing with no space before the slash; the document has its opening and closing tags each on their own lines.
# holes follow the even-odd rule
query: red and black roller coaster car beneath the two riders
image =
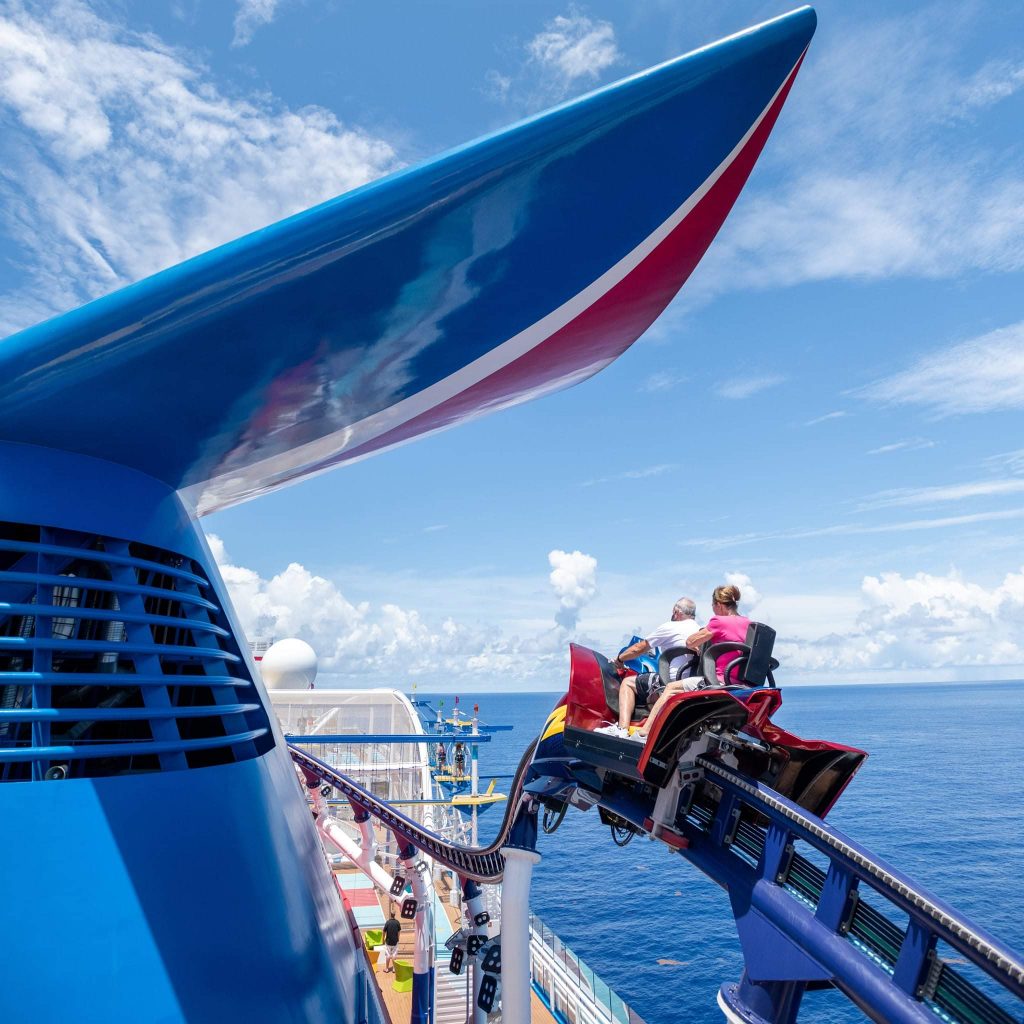
<svg viewBox="0 0 1024 1024">
<path fill-rule="evenodd" d="M 772 676 L 778 667 L 771 656 L 774 636 L 768 627 L 752 624 L 750 643 L 715 644 L 701 651 L 706 679 L 715 678 L 720 654 L 738 651 L 726 672 L 728 682 L 671 696 L 645 743 L 594 732 L 617 719 L 622 680 L 603 655 L 571 644 L 566 751 L 598 769 L 657 787 L 672 779 L 677 766 L 705 755 L 824 816 L 867 755 L 840 743 L 802 739 L 772 723 L 782 703 Z M 665 651 L 660 671 L 667 675 L 680 653 Z M 634 721 L 645 714 L 643 709 L 635 712 Z"/>
</svg>

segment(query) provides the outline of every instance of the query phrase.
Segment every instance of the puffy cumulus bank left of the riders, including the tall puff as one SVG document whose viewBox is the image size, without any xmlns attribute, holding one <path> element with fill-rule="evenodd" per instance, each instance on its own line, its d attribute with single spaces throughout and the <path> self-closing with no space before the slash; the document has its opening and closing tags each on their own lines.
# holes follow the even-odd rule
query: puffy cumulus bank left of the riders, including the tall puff
<svg viewBox="0 0 1024 1024">
<path fill-rule="evenodd" d="M 266 579 L 232 564 L 216 535 L 207 541 L 246 636 L 299 637 L 316 651 L 321 672 L 346 685 L 377 685 L 381 680 L 400 685 L 408 677 L 421 680 L 421 685 L 444 685 L 469 674 L 506 679 L 509 686 L 564 683 L 567 650 L 561 629 L 507 636 L 492 624 L 442 618 L 391 602 L 352 600 L 333 581 L 297 562 Z M 574 609 L 578 618 L 593 597 L 597 563 L 580 552 L 551 554 L 561 556 L 551 561 L 557 571 L 551 582 L 559 600 L 558 616 Z"/>
</svg>

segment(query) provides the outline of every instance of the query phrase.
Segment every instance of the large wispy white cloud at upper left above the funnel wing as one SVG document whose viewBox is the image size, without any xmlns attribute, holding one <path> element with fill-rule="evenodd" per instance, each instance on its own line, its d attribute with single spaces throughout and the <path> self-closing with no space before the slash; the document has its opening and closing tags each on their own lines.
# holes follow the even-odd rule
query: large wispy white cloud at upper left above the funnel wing
<svg viewBox="0 0 1024 1024">
<path fill-rule="evenodd" d="M 78 0 L 0 13 L 3 227 L 15 330 L 397 165 L 329 111 L 220 91 L 186 54 Z"/>
</svg>

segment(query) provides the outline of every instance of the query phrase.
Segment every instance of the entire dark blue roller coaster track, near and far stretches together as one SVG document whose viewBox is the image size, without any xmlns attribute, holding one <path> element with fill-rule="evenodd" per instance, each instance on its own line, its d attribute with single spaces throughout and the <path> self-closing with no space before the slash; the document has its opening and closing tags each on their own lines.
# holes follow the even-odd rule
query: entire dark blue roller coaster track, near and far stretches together
<svg viewBox="0 0 1024 1024">
<path fill-rule="evenodd" d="M 498 837 L 480 848 L 446 842 L 319 759 L 295 745 L 291 753 L 311 784 L 333 786 L 463 878 L 496 883 L 504 873 L 501 848 L 521 809 L 536 745 L 516 769 Z M 649 787 L 613 776 L 587 802 L 596 800 L 622 826 L 660 839 L 729 891 L 748 975 L 768 983 L 792 979 L 792 956 L 782 968 L 788 946 L 807 966 L 799 978 L 835 985 L 874 1021 L 1022 1024 L 1024 963 L 1011 949 L 768 786 L 713 757 L 700 756 L 696 765 L 701 777 L 681 788 L 671 822 L 654 825 L 656 794 Z M 567 782 L 554 799 L 567 801 L 574 787 Z M 798 843 L 823 855 L 826 868 L 819 866 L 820 857 L 815 863 L 798 852 Z M 744 930 L 763 927 L 755 919 L 768 922 L 767 940 L 750 931 L 744 936 Z M 965 961 L 987 975 L 976 979 L 980 985 L 965 975 Z M 740 988 L 727 984 L 720 992 L 729 1020 L 748 1020 L 739 1012 Z"/>
</svg>

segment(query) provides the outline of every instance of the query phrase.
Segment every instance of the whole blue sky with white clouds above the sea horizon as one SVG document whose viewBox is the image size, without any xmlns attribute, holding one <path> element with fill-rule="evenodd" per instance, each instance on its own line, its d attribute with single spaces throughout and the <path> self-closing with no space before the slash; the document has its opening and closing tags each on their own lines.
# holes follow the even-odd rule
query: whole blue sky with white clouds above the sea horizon
<svg viewBox="0 0 1024 1024">
<path fill-rule="evenodd" d="M 787 6 L 0 2 L 0 333 Z M 1024 676 L 1020 12 L 817 9 L 623 358 L 205 521 L 250 629 L 346 684 L 556 689 L 729 577 L 783 679 Z"/>
</svg>

